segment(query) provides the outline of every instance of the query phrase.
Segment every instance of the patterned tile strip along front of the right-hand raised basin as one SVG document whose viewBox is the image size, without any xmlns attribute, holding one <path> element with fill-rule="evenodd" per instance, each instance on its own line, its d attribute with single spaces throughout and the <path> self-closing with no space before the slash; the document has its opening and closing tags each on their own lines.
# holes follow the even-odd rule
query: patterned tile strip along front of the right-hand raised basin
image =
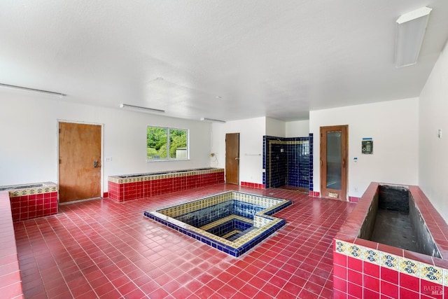
<svg viewBox="0 0 448 299">
<path fill-rule="evenodd" d="M 342 253 L 345 256 L 380 265 L 381 267 L 387 267 L 400 273 L 431 281 L 434 284 L 444 284 L 444 286 L 448 286 L 447 269 L 421 263 L 409 258 L 395 256 L 391 253 L 370 249 L 358 244 L 344 242 L 339 239 L 334 239 L 334 242 L 335 251 Z"/>
</svg>

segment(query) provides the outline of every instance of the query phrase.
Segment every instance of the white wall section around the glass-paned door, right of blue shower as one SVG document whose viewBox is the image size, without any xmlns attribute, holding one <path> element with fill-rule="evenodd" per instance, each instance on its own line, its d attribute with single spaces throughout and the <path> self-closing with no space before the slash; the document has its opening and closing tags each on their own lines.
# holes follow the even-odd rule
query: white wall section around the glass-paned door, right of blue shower
<svg viewBox="0 0 448 299">
<path fill-rule="evenodd" d="M 360 197 L 372 181 L 418 183 L 417 98 L 310 111 L 314 134 L 314 190 L 320 191 L 319 127 L 349 125 L 348 196 Z M 363 137 L 372 137 L 373 155 L 361 154 Z M 353 158 L 358 162 L 353 162 Z"/>
</svg>

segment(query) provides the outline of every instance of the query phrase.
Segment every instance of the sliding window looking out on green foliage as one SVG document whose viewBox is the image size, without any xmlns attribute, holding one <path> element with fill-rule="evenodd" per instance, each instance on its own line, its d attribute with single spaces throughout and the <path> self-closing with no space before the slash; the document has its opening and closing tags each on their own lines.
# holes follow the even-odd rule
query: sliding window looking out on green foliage
<svg viewBox="0 0 448 299">
<path fill-rule="evenodd" d="M 148 160 L 188 159 L 188 130 L 148 126 L 146 128 L 146 158 Z"/>
</svg>

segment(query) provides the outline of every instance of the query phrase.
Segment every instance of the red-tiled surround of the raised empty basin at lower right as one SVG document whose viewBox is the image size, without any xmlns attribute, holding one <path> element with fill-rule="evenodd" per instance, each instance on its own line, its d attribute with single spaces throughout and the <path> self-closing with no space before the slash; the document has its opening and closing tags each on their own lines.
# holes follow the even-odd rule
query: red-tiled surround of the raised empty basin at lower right
<svg viewBox="0 0 448 299">
<path fill-rule="evenodd" d="M 334 239 L 334 298 L 448 298 L 448 225 L 417 186 L 409 186 L 442 258 L 360 239 L 379 183 L 371 183 Z"/>
</svg>

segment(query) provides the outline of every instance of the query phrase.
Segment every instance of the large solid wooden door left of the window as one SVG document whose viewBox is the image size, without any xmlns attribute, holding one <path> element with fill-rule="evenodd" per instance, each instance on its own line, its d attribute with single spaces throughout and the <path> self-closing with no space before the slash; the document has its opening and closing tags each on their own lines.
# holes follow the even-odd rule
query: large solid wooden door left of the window
<svg viewBox="0 0 448 299">
<path fill-rule="evenodd" d="M 101 197 L 102 126 L 59 123 L 59 202 Z"/>
</svg>

